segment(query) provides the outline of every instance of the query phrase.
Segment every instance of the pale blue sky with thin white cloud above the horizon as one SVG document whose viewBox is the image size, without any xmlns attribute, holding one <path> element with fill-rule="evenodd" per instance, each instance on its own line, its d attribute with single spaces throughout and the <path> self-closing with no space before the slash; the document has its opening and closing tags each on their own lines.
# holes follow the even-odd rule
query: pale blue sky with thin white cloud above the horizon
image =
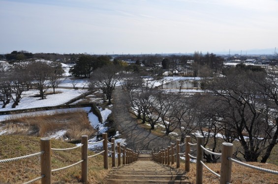
<svg viewBox="0 0 278 184">
<path fill-rule="evenodd" d="M 0 0 L 0 53 L 274 53 L 277 7 L 278 0 Z"/>
</svg>

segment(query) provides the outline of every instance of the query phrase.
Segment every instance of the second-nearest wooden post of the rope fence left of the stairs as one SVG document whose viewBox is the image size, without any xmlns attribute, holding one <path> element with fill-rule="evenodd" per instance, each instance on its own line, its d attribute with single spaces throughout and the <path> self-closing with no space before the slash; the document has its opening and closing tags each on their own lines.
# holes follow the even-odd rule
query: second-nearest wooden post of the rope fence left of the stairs
<svg viewBox="0 0 278 184">
<path fill-rule="evenodd" d="M 81 136 L 81 159 L 83 162 L 81 163 L 81 180 L 83 184 L 88 184 L 88 135 Z"/>
</svg>

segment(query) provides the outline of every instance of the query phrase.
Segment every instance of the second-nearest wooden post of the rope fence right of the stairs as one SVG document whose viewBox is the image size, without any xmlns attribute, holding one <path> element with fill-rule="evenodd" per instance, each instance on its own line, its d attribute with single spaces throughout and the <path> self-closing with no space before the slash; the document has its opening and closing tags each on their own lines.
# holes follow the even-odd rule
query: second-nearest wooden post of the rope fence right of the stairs
<svg viewBox="0 0 278 184">
<path fill-rule="evenodd" d="M 201 145 L 204 146 L 204 137 L 199 135 L 197 136 L 196 184 L 203 183 L 203 164 L 200 161 L 203 161 L 204 150 Z"/>
</svg>

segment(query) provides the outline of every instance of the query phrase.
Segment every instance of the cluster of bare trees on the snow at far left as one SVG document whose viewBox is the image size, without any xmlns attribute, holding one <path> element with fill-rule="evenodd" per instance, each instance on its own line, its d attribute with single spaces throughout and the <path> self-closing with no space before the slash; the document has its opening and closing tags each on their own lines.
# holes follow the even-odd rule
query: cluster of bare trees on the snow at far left
<svg viewBox="0 0 278 184">
<path fill-rule="evenodd" d="M 45 98 L 45 92 L 55 89 L 62 82 L 62 64 L 44 60 L 15 62 L 7 65 L 0 62 L 0 101 L 4 108 L 13 101 L 12 107 L 16 107 L 23 98 L 23 92 L 35 87 L 41 99 Z"/>
</svg>

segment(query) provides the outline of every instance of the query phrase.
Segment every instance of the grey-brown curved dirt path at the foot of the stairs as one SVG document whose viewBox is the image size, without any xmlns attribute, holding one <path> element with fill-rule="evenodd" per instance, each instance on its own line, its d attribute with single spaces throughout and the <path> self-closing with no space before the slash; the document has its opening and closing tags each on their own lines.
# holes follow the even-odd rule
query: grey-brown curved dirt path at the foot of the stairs
<svg viewBox="0 0 278 184">
<path fill-rule="evenodd" d="M 152 150 L 157 147 L 165 148 L 170 145 L 174 140 L 170 140 L 167 136 L 157 136 L 151 133 L 151 130 L 141 128 L 136 119 L 132 118 L 124 106 L 124 98 L 126 93 L 121 87 L 116 87 L 113 93 L 113 113 L 115 114 L 114 120 L 117 123 L 118 131 L 126 138 L 127 147 L 139 150 Z"/>
</svg>

